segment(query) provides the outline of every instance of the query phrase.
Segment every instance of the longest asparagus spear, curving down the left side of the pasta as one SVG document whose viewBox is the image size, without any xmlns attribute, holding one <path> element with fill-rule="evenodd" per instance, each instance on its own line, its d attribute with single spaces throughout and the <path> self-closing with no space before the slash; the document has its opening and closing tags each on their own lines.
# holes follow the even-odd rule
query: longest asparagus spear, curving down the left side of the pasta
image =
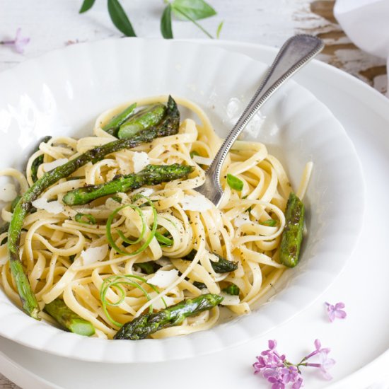
<svg viewBox="0 0 389 389">
<path fill-rule="evenodd" d="M 141 143 L 151 142 L 155 138 L 177 134 L 179 126 L 180 112 L 178 111 L 173 98 L 169 96 L 166 117 L 157 127 L 145 129 L 135 137 L 118 139 L 117 141 L 112 141 L 103 146 L 98 146 L 95 147 L 95 149 L 86 151 L 71 161 L 64 163 L 64 165 L 58 166 L 57 168 L 50 170 L 50 172 L 45 173 L 42 178 L 37 180 L 37 182 L 23 194 L 23 197 L 19 200 L 18 204 L 16 204 L 8 229 L 8 256 L 13 279 L 15 280 L 18 294 L 21 297 L 22 306 L 26 313 L 33 318 L 38 319 L 39 306 L 37 304 L 37 299 L 31 290 L 30 283 L 25 275 L 21 260 L 19 259 L 21 229 L 25 216 L 31 209 L 31 203 L 37 199 L 47 187 L 55 184 L 55 182 L 59 181 L 61 178 L 66 178 L 71 175 L 71 173 L 74 173 L 89 161 L 96 163 L 103 159 L 107 154 L 115 153 L 115 151 L 132 149 L 133 147 L 139 146 Z"/>
</svg>

